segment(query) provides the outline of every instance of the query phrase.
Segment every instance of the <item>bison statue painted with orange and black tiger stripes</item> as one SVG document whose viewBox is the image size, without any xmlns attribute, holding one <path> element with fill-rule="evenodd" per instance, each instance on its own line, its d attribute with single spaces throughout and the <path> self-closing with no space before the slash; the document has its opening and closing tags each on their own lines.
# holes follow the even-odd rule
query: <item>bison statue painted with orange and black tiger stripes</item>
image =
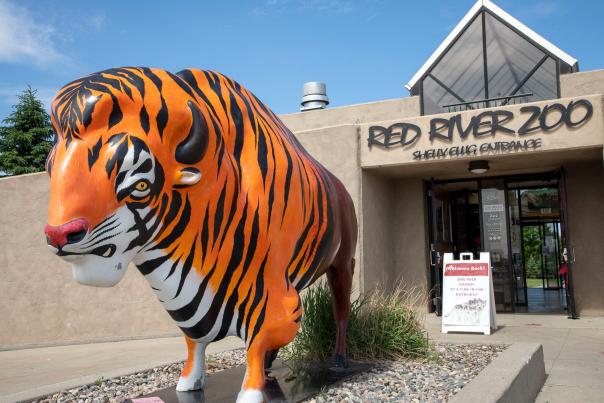
<svg viewBox="0 0 604 403">
<path fill-rule="evenodd" d="M 136 265 L 185 335 L 177 390 L 203 388 L 206 344 L 235 335 L 247 347 L 237 401 L 262 401 L 265 367 L 300 326 L 299 293 L 324 273 L 346 364 L 351 198 L 252 93 L 211 71 L 115 68 L 64 86 L 51 117 L 49 249 L 86 285 Z"/>
</svg>

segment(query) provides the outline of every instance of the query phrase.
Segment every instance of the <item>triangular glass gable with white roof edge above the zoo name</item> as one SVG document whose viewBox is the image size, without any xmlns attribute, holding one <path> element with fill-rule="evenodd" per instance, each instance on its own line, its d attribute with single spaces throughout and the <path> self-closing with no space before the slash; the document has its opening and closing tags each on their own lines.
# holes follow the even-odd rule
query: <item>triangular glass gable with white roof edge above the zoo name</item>
<svg viewBox="0 0 604 403">
<path fill-rule="evenodd" d="M 576 60 L 498 7 L 473 10 L 407 85 L 422 114 L 558 98 Z"/>
</svg>

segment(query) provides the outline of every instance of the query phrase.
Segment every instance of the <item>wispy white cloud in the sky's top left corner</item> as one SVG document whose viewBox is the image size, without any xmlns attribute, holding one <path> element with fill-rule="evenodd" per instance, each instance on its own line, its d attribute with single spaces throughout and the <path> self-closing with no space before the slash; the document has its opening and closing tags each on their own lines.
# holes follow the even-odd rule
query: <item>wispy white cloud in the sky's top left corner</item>
<svg viewBox="0 0 604 403">
<path fill-rule="evenodd" d="M 0 62 L 44 67 L 63 61 L 54 39 L 51 26 L 36 22 L 26 8 L 0 0 Z"/>
</svg>

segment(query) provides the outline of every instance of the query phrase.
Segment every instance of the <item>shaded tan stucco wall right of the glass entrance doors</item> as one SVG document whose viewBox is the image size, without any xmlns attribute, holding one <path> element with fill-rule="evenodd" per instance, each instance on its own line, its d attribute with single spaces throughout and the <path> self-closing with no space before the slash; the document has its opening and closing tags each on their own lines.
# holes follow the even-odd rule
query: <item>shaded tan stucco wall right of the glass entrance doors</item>
<svg viewBox="0 0 604 403">
<path fill-rule="evenodd" d="M 604 167 L 602 161 L 565 166 L 577 312 L 604 315 Z"/>
</svg>

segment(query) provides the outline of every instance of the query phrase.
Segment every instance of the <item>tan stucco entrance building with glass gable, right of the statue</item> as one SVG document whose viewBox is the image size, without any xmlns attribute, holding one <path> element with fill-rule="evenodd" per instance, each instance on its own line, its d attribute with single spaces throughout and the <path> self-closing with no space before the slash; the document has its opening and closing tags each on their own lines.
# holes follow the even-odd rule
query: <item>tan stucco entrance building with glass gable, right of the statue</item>
<svg viewBox="0 0 604 403">
<path fill-rule="evenodd" d="M 443 254 L 482 251 L 498 312 L 604 313 L 604 71 L 484 0 L 406 87 L 282 117 L 359 195 L 359 288 L 440 313 Z"/>
</svg>

